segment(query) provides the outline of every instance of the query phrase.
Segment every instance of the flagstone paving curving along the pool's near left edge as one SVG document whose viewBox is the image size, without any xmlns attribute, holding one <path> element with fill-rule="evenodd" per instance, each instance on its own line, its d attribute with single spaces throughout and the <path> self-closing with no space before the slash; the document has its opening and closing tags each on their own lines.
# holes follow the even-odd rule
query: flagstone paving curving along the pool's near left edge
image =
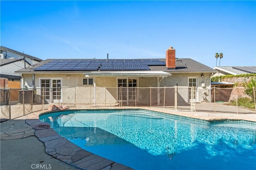
<svg viewBox="0 0 256 170">
<path fill-rule="evenodd" d="M 102 158 L 91 152 L 83 150 L 67 139 L 61 137 L 49 127 L 38 128 L 42 122 L 38 115 L 45 111 L 38 111 L 23 117 L 23 120 L 10 120 L 1 124 L 1 141 L 12 139 L 24 139 L 36 136 L 44 143 L 45 152 L 50 156 L 66 162 L 79 169 L 86 170 L 129 170 L 131 168 Z M 20 117 L 19 119 L 22 119 Z M 15 121 L 15 123 L 14 123 Z M 37 130 L 38 129 L 38 130 Z M 4 163 L 4 162 L 2 162 Z"/>
</svg>

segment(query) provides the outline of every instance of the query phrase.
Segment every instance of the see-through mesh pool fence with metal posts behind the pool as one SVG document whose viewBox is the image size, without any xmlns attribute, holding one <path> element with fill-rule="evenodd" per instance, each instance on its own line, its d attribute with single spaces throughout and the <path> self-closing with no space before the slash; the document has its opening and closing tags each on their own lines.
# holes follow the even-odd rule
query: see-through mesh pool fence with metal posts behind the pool
<svg viewBox="0 0 256 170">
<path fill-rule="evenodd" d="M 1 121 L 14 119 L 52 105 L 68 107 L 161 107 L 207 113 L 256 113 L 255 89 L 252 96 L 244 88 L 195 87 L 59 87 L 0 89 Z M 18 100 L 17 100 L 18 99 Z M 251 109 L 239 107 L 248 102 Z M 234 106 L 231 106 L 231 103 Z"/>
</svg>

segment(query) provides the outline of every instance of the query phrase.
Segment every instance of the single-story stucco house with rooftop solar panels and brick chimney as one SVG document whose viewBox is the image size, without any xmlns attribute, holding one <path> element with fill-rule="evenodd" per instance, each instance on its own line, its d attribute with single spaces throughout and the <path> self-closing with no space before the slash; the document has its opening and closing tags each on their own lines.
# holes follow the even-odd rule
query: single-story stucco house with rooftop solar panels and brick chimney
<svg viewBox="0 0 256 170">
<path fill-rule="evenodd" d="M 88 103 L 91 99 L 97 104 L 106 100 L 118 103 L 122 94 L 121 101 L 126 103 L 157 96 L 159 105 L 163 102 L 159 101 L 161 95 L 174 94 L 174 86 L 179 87 L 182 102 L 190 102 L 192 93 L 188 87 L 192 86 L 198 89 L 194 94 L 196 102 L 202 102 L 204 98 L 210 101 L 210 78 L 217 71 L 189 58 L 176 58 L 176 50 L 170 47 L 163 59 L 108 59 L 108 56 L 106 59 L 47 59 L 15 72 L 22 76 L 22 86 L 41 88 L 36 90 L 38 102 L 44 87 L 44 98 L 48 103 L 58 100 L 62 103 Z M 151 90 L 156 87 L 162 89 L 155 94 L 143 92 L 143 88 Z M 172 90 L 167 92 L 164 87 L 172 87 Z M 102 96 L 97 97 L 99 95 Z M 143 95 L 148 96 L 141 97 Z M 174 96 L 170 95 L 165 102 L 172 98 Z"/>
</svg>

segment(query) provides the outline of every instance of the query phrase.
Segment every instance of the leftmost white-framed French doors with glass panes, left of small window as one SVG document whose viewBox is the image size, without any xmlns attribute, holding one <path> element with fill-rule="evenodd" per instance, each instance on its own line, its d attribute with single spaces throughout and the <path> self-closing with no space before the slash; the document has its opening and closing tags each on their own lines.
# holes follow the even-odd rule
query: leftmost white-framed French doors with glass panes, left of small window
<svg viewBox="0 0 256 170">
<path fill-rule="evenodd" d="M 60 78 L 42 78 L 40 79 L 41 95 L 48 103 L 62 102 L 62 90 Z M 43 91 L 44 88 L 44 91 Z"/>
</svg>

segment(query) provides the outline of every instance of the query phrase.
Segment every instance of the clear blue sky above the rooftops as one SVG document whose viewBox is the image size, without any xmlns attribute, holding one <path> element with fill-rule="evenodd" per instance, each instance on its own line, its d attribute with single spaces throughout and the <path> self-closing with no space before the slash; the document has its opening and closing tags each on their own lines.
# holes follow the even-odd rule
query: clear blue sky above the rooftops
<svg viewBox="0 0 256 170">
<path fill-rule="evenodd" d="M 256 65 L 256 1 L 0 1 L 4 47 L 40 59 L 177 58 Z M 219 65 L 219 59 L 218 59 Z"/>
</svg>

